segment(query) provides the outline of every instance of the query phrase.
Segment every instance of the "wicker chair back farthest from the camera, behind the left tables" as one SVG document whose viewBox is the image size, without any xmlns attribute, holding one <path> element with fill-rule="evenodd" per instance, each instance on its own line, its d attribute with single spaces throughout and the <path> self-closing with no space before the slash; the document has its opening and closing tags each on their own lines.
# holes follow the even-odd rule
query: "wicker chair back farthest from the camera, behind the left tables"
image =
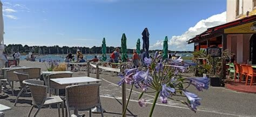
<svg viewBox="0 0 256 117">
<path fill-rule="evenodd" d="M 29 73 L 29 78 L 30 79 L 38 79 L 38 78 L 40 78 L 41 68 L 29 67 L 29 68 L 25 68 L 24 72 Z"/>
</svg>

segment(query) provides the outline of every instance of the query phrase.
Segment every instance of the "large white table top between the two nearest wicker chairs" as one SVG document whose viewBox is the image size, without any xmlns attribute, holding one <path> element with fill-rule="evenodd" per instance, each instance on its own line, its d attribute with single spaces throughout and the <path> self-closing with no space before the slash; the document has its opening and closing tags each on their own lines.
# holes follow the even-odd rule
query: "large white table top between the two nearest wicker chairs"
<svg viewBox="0 0 256 117">
<path fill-rule="evenodd" d="M 92 77 L 68 77 L 68 78 L 51 78 L 50 79 L 53 82 L 56 82 L 60 85 L 63 84 L 84 84 L 84 83 L 90 83 L 90 82 L 99 82 L 102 81 L 101 79 L 96 79 Z"/>
</svg>

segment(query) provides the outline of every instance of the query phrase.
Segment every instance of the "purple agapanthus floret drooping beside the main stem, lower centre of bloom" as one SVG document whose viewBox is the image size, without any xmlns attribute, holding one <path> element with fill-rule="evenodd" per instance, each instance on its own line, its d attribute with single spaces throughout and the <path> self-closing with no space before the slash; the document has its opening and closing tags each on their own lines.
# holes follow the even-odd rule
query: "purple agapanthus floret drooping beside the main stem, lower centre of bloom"
<svg viewBox="0 0 256 117">
<path fill-rule="evenodd" d="M 175 89 L 170 87 L 170 86 L 166 86 L 166 84 L 162 85 L 162 90 L 160 91 L 160 99 L 161 102 L 166 104 L 167 103 L 167 97 L 171 96 L 171 93 L 175 92 Z"/>
</svg>

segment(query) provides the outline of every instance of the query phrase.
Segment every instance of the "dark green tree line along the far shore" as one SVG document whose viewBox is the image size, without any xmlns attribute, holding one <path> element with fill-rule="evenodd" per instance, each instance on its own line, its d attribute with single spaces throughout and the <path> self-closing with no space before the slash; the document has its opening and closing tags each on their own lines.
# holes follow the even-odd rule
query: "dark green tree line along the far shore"
<svg viewBox="0 0 256 117">
<path fill-rule="evenodd" d="M 120 47 L 119 47 L 120 48 Z M 68 47 L 68 46 L 28 46 L 21 44 L 16 45 L 8 45 L 5 47 L 5 53 L 6 54 L 12 54 L 14 52 L 19 52 L 22 54 L 28 54 L 29 52 L 32 52 L 33 54 L 68 54 L 70 52 L 76 53 L 77 49 L 79 49 L 83 54 L 102 54 L 102 47 L 96 47 L 93 46 L 91 48 L 89 47 Z M 112 53 L 114 51 L 115 47 L 106 47 L 106 53 Z M 142 50 L 141 50 L 142 51 Z M 161 50 L 149 50 L 149 53 L 154 53 L 156 51 Z M 192 53 L 191 51 L 177 51 L 178 53 Z M 127 53 L 133 53 L 133 49 L 127 49 Z M 171 53 L 174 53 L 171 51 Z"/>
</svg>

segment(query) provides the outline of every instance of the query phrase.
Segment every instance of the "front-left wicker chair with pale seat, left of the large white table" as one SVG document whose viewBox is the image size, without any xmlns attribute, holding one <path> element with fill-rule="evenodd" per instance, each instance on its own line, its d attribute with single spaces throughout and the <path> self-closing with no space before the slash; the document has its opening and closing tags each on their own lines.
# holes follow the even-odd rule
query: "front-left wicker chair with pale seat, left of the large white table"
<svg viewBox="0 0 256 117">
<path fill-rule="evenodd" d="M 60 116 L 59 104 L 62 104 L 62 116 L 64 116 L 64 101 L 59 96 L 47 97 L 47 86 L 43 85 L 43 81 L 37 81 L 33 79 L 26 79 L 23 81 L 25 85 L 29 86 L 32 95 L 32 107 L 29 111 L 29 115 L 32 112 L 33 107 L 37 106 L 38 109 L 34 116 L 36 116 L 43 105 L 57 104 L 58 115 Z"/>
</svg>

